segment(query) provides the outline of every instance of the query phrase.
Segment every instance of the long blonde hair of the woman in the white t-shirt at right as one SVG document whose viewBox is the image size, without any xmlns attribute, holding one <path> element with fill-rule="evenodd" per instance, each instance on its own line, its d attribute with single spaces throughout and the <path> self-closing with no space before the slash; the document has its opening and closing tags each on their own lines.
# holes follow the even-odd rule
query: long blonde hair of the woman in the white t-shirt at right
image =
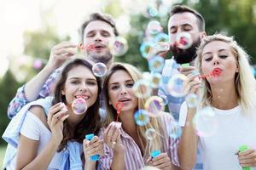
<svg viewBox="0 0 256 170">
<path fill-rule="evenodd" d="M 249 56 L 247 53 L 237 44 L 233 37 L 226 37 L 221 34 L 214 34 L 212 36 L 205 37 L 201 42 L 200 47 L 197 50 L 197 59 L 195 61 L 198 71 L 201 71 L 202 51 L 206 45 L 213 41 L 226 42 L 230 45 L 231 52 L 236 56 L 238 69 L 235 75 L 235 88 L 238 97 L 238 103 L 241 105 L 241 110 L 245 114 L 252 113 L 255 108 L 255 79 L 249 65 Z M 212 91 L 209 82 L 206 79 L 202 79 L 202 83 L 205 88 L 201 89 L 200 105 L 199 109 L 210 106 L 212 101 Z"/>
</svg>

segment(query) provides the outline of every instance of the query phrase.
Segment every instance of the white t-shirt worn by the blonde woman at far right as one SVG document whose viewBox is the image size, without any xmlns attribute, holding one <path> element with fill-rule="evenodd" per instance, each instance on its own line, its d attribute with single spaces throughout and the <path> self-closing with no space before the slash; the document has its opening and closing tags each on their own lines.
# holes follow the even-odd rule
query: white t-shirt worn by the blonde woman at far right
<svg viewBox="0 0 256 170">
<path fill-rule="evenodd" d="M 184 126 L 187 117 L 187 105 L 183 102 L 179 125 Z M 231 110 L 213 108 L 216 128 L 209 136 L 199 136 L 199 148 L 202 153 L 205 170 L 241 170 L 236 151 L 241 145 L 256 150 L 256 116 L 243 116 L 241 106 Z M 201 124 L 207 120 L 200 119 Z M 213 128 L 212 128 L 213 129 Z M 256 167 L 251 167 L 256 170 Z"/>
</svg>

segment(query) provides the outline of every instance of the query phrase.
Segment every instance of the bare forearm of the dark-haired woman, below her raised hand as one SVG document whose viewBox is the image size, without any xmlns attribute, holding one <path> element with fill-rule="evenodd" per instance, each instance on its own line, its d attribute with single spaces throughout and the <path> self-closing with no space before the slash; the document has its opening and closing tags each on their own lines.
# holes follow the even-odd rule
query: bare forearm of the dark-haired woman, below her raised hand
<svg viewBox="0 0 256 170">
<path fill-rule="evenodd" d="M 45 170 L 49 167 L 49 162 L 55 156 L 55 152 L 58 149 L 59 144 L 57 144 L 54 140 L 50 140 L 49 143 L 45 146 L 44 150 L 42 150 L 38 156 L 31 161 L 26 167 L 16 168 L 22 170 Z"/>
</svg>

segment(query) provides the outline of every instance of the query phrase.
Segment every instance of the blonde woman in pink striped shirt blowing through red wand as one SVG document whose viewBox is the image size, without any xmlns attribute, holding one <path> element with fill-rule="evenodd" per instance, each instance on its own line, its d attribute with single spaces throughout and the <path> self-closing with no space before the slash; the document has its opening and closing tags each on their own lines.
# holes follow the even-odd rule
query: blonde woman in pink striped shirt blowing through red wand
<svg viewBox="0 0 256 170">
<path fill-rule="evenodd" d="M 138 126 L 134 113 L 144 109 L 145 99 L 138 99 L 132 87 L 142 78 L 137 69 L 128 64 L 115 63 L 109 69 L 108 76 L 103 84 L 103 93 L 106 98 L 108 122 L 102 128 L 104 139 L 104 155 L 100 163 L 102 169 L 141 169 L 146 165 L 160 169 L 178 169 L 177 138 L 167 134 L 167 128 L 175 128 L 174 119 L 169 114 L 162 114 L 158 118 L 150 118 L 144 126 Z M 123 107 L 116 121 L 118 106 Z M 108 126 L 108 127 L 107 127 Z M 148 140 L 146 131 L 154 128 L 154 141 Z M 160 155 L 150 157 L 154 150 L 160 150 Z"/>
</svg>

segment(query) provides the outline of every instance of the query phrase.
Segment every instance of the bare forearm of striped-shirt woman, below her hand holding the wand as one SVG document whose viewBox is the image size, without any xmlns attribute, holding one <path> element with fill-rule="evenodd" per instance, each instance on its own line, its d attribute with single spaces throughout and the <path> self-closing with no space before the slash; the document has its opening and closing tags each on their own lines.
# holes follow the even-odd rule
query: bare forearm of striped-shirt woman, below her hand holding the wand
<svg viewBox="0 0 256 170">
<path fill-rule="evenodd" d="M 111 164 L 112 170 L 122 170 L 125 169 L 125 151 L 113 152 L 113 161 Z"/>
</svg>

